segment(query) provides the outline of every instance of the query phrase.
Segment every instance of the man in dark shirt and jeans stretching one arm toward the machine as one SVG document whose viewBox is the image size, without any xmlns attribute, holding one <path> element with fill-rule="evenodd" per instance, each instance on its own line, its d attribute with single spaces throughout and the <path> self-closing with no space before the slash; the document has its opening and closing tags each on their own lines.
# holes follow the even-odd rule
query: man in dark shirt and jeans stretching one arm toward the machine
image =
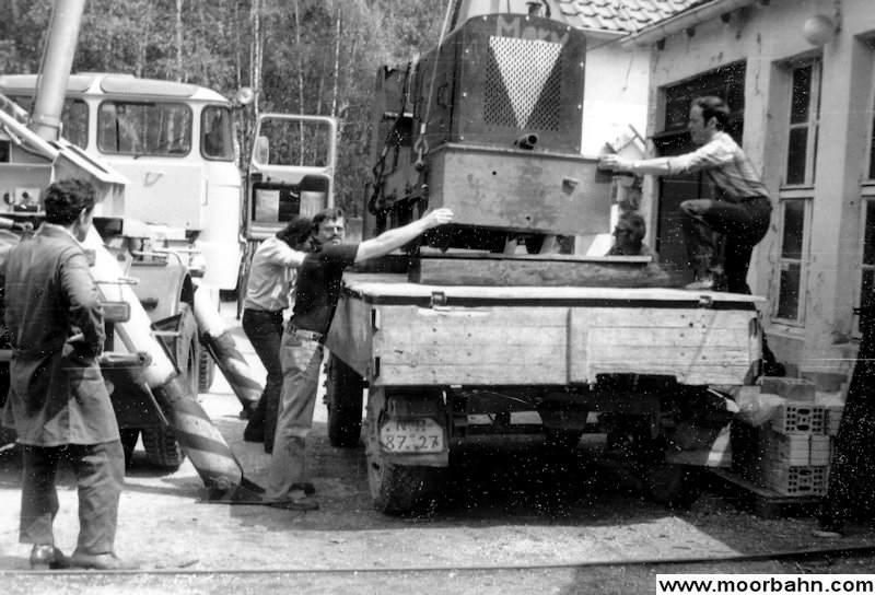
<svg viewBox="0 0 875 595">
<path fill-rule="evenodd" d="M 453 212 L 436 209 L 402 228 L 388 230 L 361 244 L 343 245 L 342 209 L 327 209 L 313 218 L 314 252 L 298 273 L 292 317 L 282 335 L 282 398 L 270 459 L 265 503 L 287 510 L 315 510 L 313 485 L 304 481 L 304 441 L 313 424 L 325 335 L 331 326 L 343 269 L 384 256 L 425 231 L 450 223 Z M 285 374 L 285 370 L 294 370 Z"/>
</svg>

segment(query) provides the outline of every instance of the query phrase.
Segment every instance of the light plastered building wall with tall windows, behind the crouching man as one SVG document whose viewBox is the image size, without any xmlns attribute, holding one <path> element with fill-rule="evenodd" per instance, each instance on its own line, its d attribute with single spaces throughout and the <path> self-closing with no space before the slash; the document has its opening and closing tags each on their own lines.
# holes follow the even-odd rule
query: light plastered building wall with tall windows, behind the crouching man
<svg viewBox="0 0 875 595">
<path fill-rule="evenodd" d="M 822 47 L 803 37 L 815 14 L 836 14 L 832 0 L 752 2 L 652 46 L 648 132 L 662 130 L 661 90 L 746 60 L 744 149 L 763 173 L 775 210 L 771 230 L 757 247 L 748 282 L 771 299 L 767 332 L 779 359 L 800 369 L 849 370 L 854 334 L 852 307 L 862 250 L 861 180 L 867 177 L 873 110 L 872 0 L 839 3 L 842 27 Z M 662 47 L 661 47 L 662 46 Z M 820 56 L 822 94 L 816 183 L 810 200 L 808 245 L 803 258 L 804 323 L 772 323 L 778 288 L 779 188 L 785 171 L 791 80 L 786 63 Z M 653 191 L 655 185 L 648 185 Z M 651 203 L 656 203 L 651 201 Z"/>
</svg>

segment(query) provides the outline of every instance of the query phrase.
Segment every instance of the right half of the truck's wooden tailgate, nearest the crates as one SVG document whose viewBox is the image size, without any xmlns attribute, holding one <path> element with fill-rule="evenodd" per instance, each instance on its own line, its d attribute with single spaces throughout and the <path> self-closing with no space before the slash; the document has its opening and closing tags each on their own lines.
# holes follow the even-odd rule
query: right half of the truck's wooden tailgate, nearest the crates
<svg viewBox="0 0 875 595">
<path fill-rule="evenodd" d="M 759 350 L 743 311 L 572 308 L 572 382 L 597 374 L 670 375 L 684 384 L 744 384 Z"/>
</svg>

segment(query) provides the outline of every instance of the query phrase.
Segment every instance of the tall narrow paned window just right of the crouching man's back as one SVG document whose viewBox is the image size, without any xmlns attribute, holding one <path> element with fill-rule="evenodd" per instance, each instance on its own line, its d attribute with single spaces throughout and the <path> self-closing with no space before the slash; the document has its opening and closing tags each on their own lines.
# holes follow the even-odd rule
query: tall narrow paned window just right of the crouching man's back
<svg viewBox="0 0 875 595">
<path fill-rule="evenodd" d="M 805 283 L 820 119 L 819 58 L 789 66 L 790 109 L 784 180 L 779 191 L 778 296 L 774 317 L 805 322 Z"/>
</svg>

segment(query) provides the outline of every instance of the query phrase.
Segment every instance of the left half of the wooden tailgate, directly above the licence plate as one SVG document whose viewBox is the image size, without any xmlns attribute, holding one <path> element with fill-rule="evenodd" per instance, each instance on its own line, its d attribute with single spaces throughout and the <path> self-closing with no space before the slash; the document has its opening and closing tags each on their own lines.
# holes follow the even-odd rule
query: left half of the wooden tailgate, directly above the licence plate
<svg viewBox="0 0 875 595">
<path fill-rule="evenodd" d="M 376 306 L 384 385 L 568 382 L 568 308 Z"/>
</svg>

